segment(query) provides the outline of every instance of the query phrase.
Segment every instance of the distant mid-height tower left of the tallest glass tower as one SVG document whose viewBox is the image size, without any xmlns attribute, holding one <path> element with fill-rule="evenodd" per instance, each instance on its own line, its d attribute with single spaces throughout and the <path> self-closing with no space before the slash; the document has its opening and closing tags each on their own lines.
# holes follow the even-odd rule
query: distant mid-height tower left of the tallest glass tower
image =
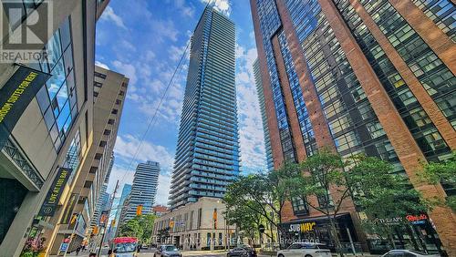
<svg viewBox="0 0 456 257">
<path fill-rule="evenodd" d="M 152 206 L 157 195 L 159 175 L 159 162 L 148 160 L 146 163 L 138 164 L 130 195 L 123 204 L 124 210 L 120 214 L 120 224 L 133 219 L 136 216 L 139 205 L 142 205 L 142 214 L 152 213 Z"/>
</svg>

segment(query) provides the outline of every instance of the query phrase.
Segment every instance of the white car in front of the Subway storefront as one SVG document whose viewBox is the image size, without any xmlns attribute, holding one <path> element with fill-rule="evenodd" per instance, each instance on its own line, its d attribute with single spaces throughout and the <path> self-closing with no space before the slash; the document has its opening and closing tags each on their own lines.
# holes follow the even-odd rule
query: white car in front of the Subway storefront
<svg viewBox="0 0 456 257">
<path fill-rule="evenodd" d="M 295 242 L 277 252 L 277 257 L 331 257 L 331 252 L 323 247 L 320 243 Z"/>
</svg>

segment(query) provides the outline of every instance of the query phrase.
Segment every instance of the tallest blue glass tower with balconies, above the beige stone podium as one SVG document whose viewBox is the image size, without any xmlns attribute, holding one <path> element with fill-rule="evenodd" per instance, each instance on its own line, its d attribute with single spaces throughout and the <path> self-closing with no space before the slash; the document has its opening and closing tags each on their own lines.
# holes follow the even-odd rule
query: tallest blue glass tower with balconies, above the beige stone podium
<svg viewBox="0 0 456 257">
<path fill-rule="evenodd" d="M 223 197 L 239 174 L 234 41 L 233 22 L 207 7 L 192 36 L 171 209 Z"/>
</svg>

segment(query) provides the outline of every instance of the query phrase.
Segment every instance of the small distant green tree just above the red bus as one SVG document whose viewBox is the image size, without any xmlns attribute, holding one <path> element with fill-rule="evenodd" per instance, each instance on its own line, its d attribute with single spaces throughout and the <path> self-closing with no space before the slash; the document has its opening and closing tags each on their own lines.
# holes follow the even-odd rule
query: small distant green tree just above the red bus
<svg viewBox="0 0 456 257">
<path fill-rule="evenodd" d="M 155 215 L 136 216 L 119 228 L 119 236 L 136 237 L 141 243 L 150 243 Z"/>
</svg>

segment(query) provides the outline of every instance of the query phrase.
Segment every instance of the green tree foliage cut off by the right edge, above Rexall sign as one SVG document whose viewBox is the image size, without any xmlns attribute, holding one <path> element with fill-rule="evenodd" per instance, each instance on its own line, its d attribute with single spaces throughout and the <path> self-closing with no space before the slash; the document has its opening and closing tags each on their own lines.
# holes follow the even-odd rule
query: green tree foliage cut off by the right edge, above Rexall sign
<svg viewBox="0 0 456 257">
<path fill-rule="evenodd" d="M 456 151 L 453 151 L 451 159 L 441 162 L 425 164 L 423 178 L 432 184 L 446 184 L 451 188 L 456 187 Z M 448 196 L 445 203 L 452 211 L 456 211 L 456 196 Z"/>
</svg>

